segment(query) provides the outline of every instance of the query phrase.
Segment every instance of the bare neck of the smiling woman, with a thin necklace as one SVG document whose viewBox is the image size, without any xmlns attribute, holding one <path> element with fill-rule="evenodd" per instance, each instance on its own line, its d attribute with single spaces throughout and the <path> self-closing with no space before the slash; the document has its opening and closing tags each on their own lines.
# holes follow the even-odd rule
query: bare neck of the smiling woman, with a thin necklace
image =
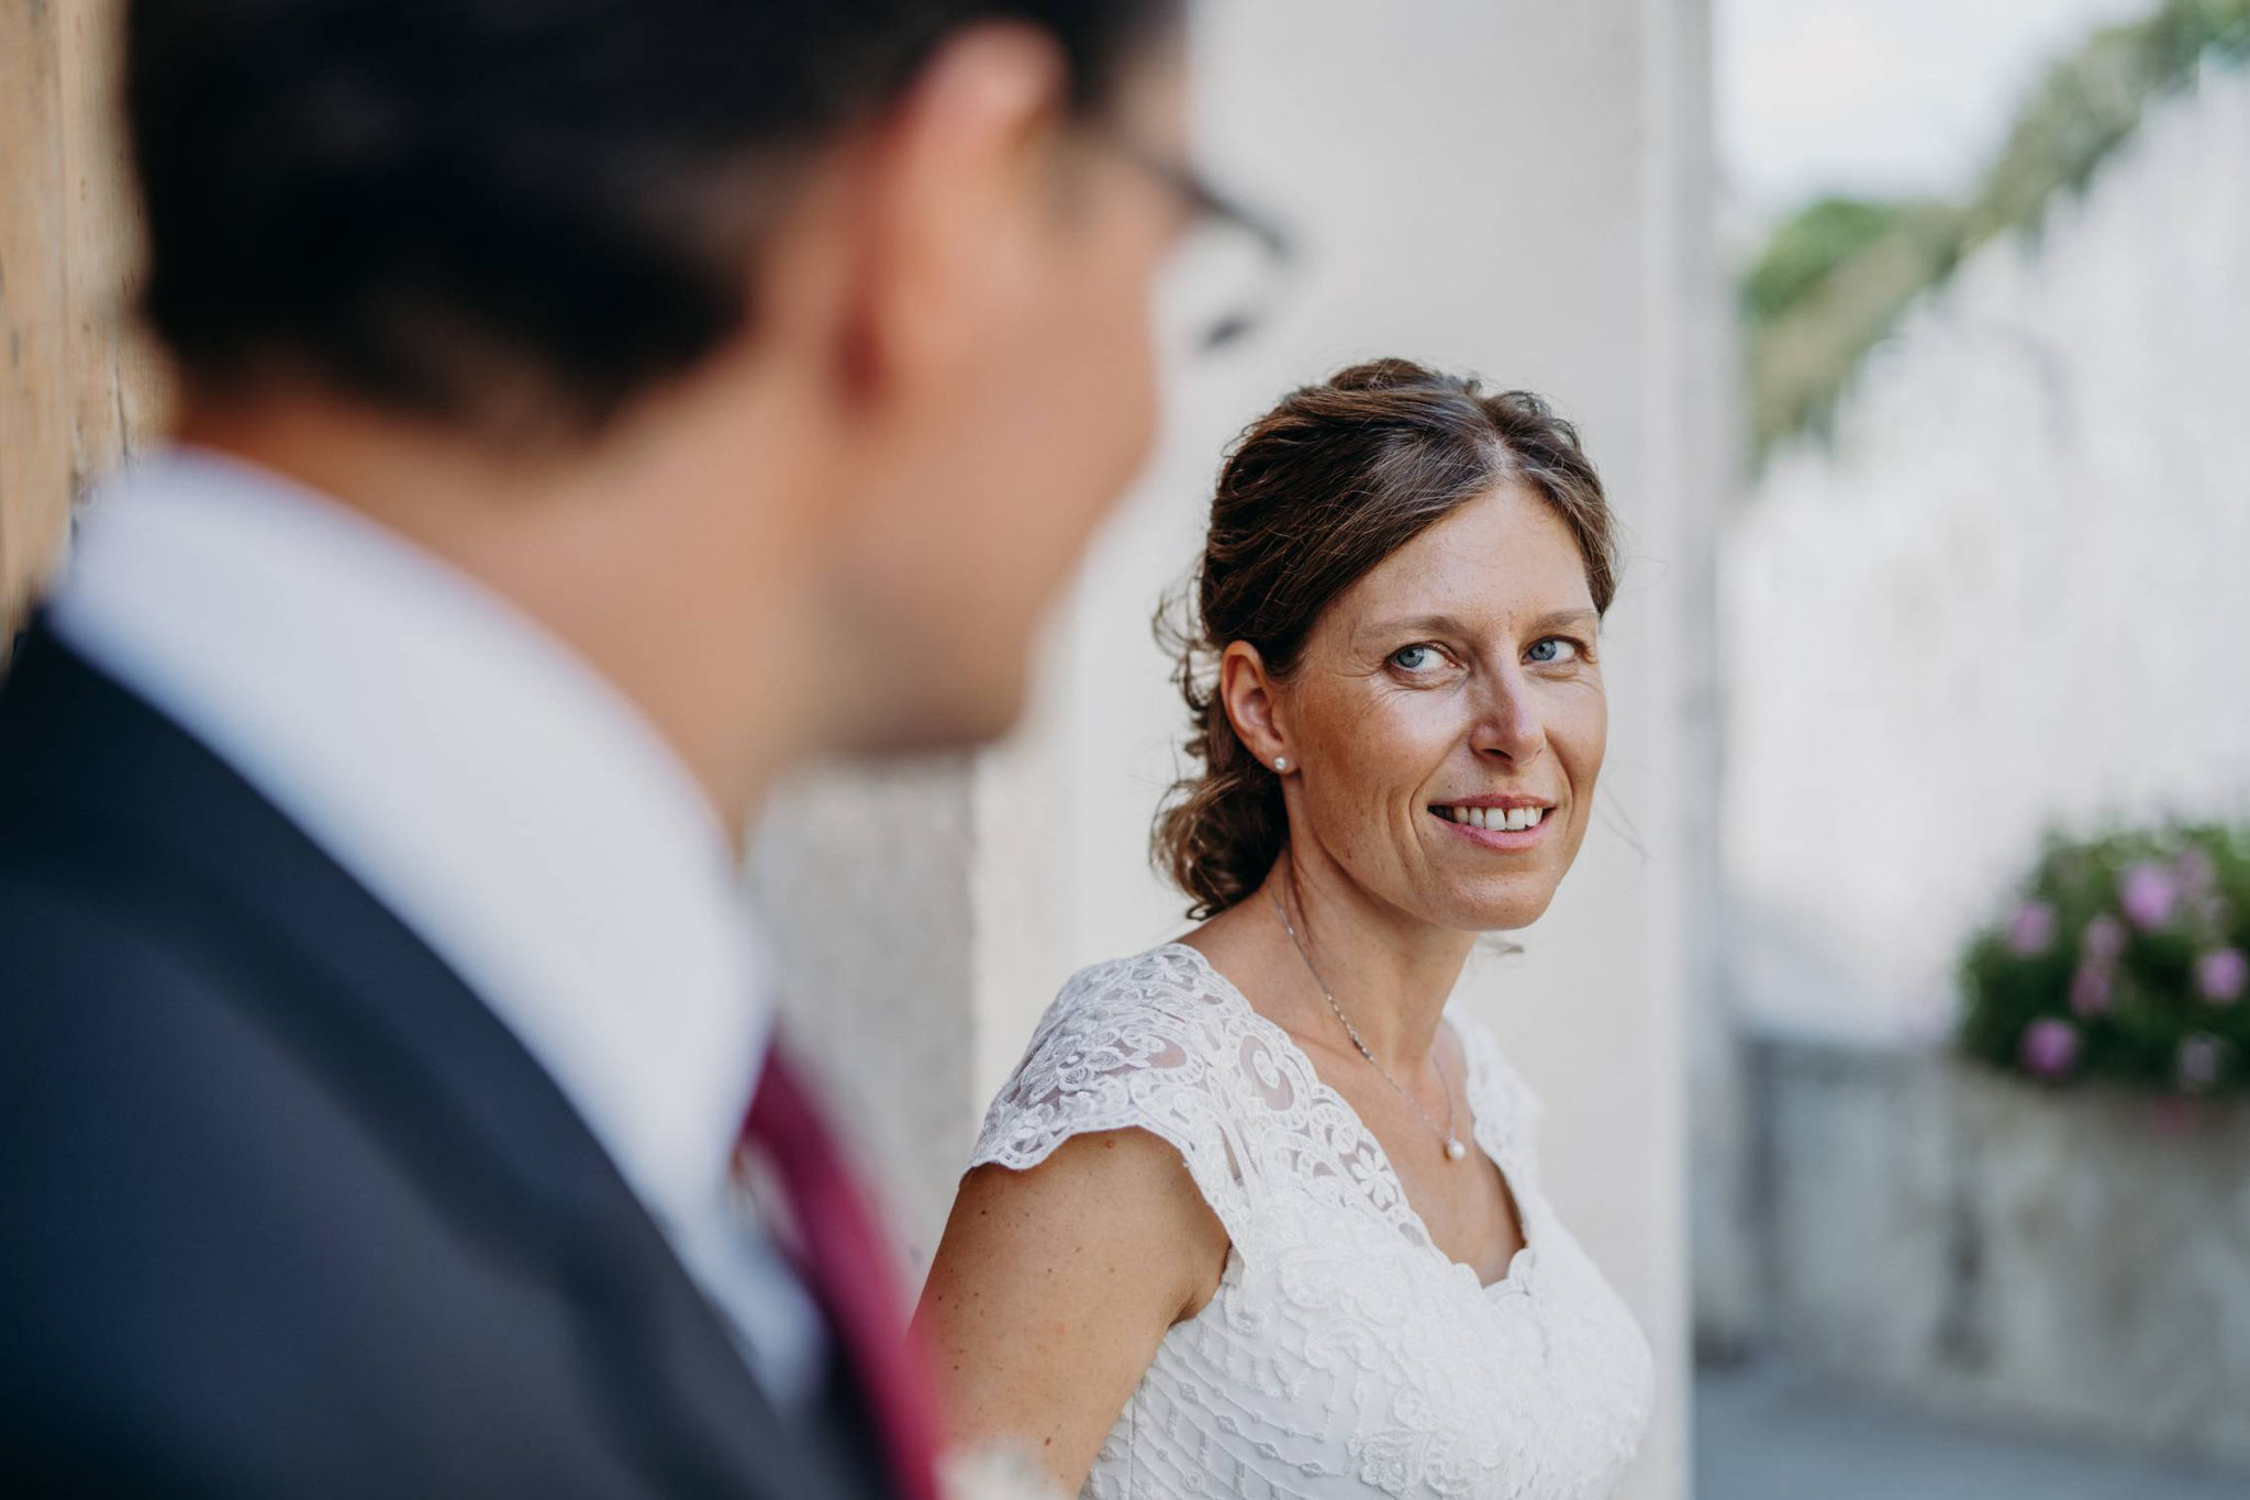
<svg viewBox="0 0 2250 1500">
<path fill-rule="evenodd" d="M 1280 904 L 1321 981 L 1307 974 L 1307 985 L 1325 985 L 1375 1061 L 1393 1077 L 1415 1077 L 1429 1061 L 1476 933 L 1372 902 L 1318 850 L 1285 852 L 1253 900 L 1267 911 Z M 1316 994 L 1314 1003 L 1328 1010 L 1328 999 Z"/>
</svg>

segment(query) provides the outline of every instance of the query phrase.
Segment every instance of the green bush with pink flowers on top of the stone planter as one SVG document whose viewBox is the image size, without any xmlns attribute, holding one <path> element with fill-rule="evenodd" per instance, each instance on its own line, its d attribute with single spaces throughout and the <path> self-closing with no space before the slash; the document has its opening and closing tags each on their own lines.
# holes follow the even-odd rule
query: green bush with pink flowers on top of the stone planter
<svg viewBox="0 0 2250 1500">
<path fill-rule="evenodd" d="M 2050 837 L 1960 978 L 1960 1043 L 1998 1068 L 2250 1091 L 2250 828 Z"/>
</svg>

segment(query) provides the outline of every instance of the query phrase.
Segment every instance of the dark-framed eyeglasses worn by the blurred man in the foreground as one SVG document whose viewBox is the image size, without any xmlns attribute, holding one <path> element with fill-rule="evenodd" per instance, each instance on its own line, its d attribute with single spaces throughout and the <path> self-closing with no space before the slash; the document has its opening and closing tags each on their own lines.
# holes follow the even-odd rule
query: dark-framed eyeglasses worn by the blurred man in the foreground
<svg viewBox="0 0 2250 1500">
<path fill-rule="evenodd" d="M 1188 209 L 1188 234 L 1159 286 L 1166 342 L 1213 353 L 1256 333 L 1271 317 L 1296 259 L 1289 232 L 1206 182 L 1195 166 L 1118 133 L 1105 139 Z"/>
</svg>

